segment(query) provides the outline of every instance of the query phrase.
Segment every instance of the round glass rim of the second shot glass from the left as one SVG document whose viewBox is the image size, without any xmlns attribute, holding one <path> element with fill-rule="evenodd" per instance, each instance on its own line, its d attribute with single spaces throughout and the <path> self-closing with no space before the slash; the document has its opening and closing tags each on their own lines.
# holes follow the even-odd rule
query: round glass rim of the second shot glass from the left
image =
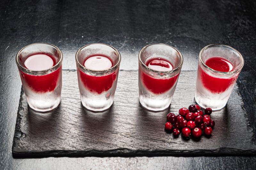
<svg viewBox="0 0 256 170">
<path fill-rule="evenodd" d="M 111 47 L 111 48 L 112 48 L 115 52 L 117 52 L 117 54 L 118 54 L 118 61 L 117 61 L 117 63 L 116 63 L 114 66 L 112 66 L 112 67 L 110 67 L 110 68 L 108 68 L 108 69 L 105 69 L 105 70 L 93 70 L 93 69 L 89 69 L 89 68 L 84 67 L 84 65 L 81 64 L 81 63 L 78 61 L 78 59 L 77 59 L 78 53 L 79 53 L 83 48 L 85 48 L 85 47 L 87 47 L 87 46 L 90 46 L 90 45 L 104 45 L 104 46 L 109 46 L 109 47 Z M 76 63 L 78 63 L 79 67 L 82 68 L 82 69 L 84 69 L 84 70 L 86 70 L 86 71 L 93 72 L 93 73 L 104 73 L 104 72 L 112 71 L 112 70 L 116 69 L 116 67 L 118 67 L 118 66 L 120 65 L 120 62 L 121 62 L 121 54 L 119 53 L 119 51 L 118 51 L 116 48 L 114 48 L 113 46 L 110 46 L 110 45 L 104 44 L 104 43 L 91 43 L 91 44 L 87 44 L 87 45 L 85 45 L 85 46 L 79 48 L 79 49 L 77 50 L 77 52 L 76 52 Z"/>
</svg>

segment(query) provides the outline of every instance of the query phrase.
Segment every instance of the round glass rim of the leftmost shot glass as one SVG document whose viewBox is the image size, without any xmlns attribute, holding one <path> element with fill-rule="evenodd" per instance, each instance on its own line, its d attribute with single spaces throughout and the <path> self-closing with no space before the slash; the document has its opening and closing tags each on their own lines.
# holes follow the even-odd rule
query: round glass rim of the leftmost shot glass
<svg viewBox="0 0 256 170">
<path fill-rule="evenodd" d="M 45 69 L 45 70 L 38 70 L 38 71 L 34 71 L 34 70 L 30 70 L 28 68 L 25 68 L 23 67 L 20 62 L 19 62 L 19 56 L 20 56 L 20 53 L 22 52 L 22 50 L 24 50 L 25 48 L 27 48 L 28 46 L 33 46 L 33 45 L 38 45 L 38 44 L 44 44 L 44 45 L 49 45 L 49 46 L 53 46 L 54 48 L 56 48 L 59 52 L 60 52 L 60 60 L 55 64 L 53 65 L 52 67 L 48 68 L 48 69 Z M 56 68 L 56 67 L 59 67 L 61 62 L 63 60 L 63 54 L 62 52 L 60 51 L 60 49 L 57 47 L 57 46 L 54 46 L 52 44 L 49 44 L 49 43 L 33 43 L 33 44 L 29 44 L 27 46 L 24 46 L 23 48 L 20 49 L 20 51 L 17 53 L 16 55 L 16 64 L 17 66 L 22 69 L 23 71 L 25 72 L 28 72 L 28 73 L 47 73 L 49 71 L 51 71 L 52 69 Z"/>
</svg>

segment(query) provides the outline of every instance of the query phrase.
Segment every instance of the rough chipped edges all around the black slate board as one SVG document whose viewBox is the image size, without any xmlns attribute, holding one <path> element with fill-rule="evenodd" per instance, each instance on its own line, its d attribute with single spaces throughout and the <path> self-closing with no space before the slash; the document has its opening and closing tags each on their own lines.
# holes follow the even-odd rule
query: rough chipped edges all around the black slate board
<svg viewBox="0 0 256 170">
<path fill-rule="evenodd" d="M 63 71 L 76 71 L 75 69 L 63 69 Z M 138 71 L 138 70 L 120 70 L 120 71 Z M 186 70 L 184 72 L 190 72 L 191 70 Z M 241 96 L 239 89 L 236 91 L 239 96 Z M 161 156 L 161 155 L 255 155 L 256 149 L 249 149 L 249 150 L 242 150 L 242 149 L 235 149 L 235 148 L 218 148 L 213 150 L 130 150 L 127 148 L 119 148 L 114 150 L 107 150 L 107 151 L 98 151 L 98 150 L 87 150 L 87 151 L 68 151 L 68 150 L 52 150 L 52 151 L 44 151 L 44 152 L 22 152 L 15 149 L 16 141 L 20 140 L 20 138 L 25 137 L 26 134 L 24 134 L 21 131 L 20 128 L 20 121 L 21 121 L 21 115 L 19 114 L 19 111 L 22 108 L 22 95 L 24 94 L 23 88 L 21 86 L 21 92 L 20 92 L 20 101 L 19 101 L 19 107 L 17 112 L 17 120 L 15 125 L 15 132 L 14 132 L 14 138 L 13 138 L 13 145 L 12 145 L 12 155 L 13 157 L 19 157 L 19 156 L 36 156 L 36 157 L 60 157 L 60 156 L 74 156 L 74 157 L 83 157 L 83 156 Z M 246 121 L 250 122 L 248 119 L 248 113 L 246 112 L 244 108 L 244 100 L 242 98 L 241 101 L 243 104 L 241 105 L 242 109 L 244 110 L 244 116 L 246 117 Z M 256 121 L 256 120 L 255 120 Z M 251 124 L 247 123 L 247 129 L 248 131 L 252 131 Z M 252 145 L 255 146 L 255 134 L 253 133 L 252 136 Z M 16 151 L 15 151 L 16 150 Z"/>
</svg>

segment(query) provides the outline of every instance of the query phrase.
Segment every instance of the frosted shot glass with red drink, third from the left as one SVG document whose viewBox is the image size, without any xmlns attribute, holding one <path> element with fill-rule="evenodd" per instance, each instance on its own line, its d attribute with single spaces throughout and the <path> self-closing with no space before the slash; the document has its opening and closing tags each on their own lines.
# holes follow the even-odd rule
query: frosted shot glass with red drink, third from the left
<svg viewBox="0 0 256 170">
<path fill-rule="evenodd" d="M 148 63 L 152 60 L 168 62 L 172 70 L 159 71 L 148 67 Z M 183 56 L 172 46 L 151 44 L 140 50 L 139 101 L 144 108 L 159 111 L 169 107 L 182 64 Z"/>
</svg>

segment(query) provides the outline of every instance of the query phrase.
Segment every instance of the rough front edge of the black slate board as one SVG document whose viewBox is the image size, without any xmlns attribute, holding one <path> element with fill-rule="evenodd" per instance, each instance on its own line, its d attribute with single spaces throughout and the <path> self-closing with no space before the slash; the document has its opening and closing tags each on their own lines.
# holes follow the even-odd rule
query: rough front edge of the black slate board
<svg viewBox="0 0 256 170">
<path fill-rule="evenodd" d="M 216 156 L 216 155 L 255 155 L 256 149 L 250 150 L 240 150 L 234 148 L 218 148 L 214 150 L 130 150 L 126 148 L 120 148 L 109 151 L 99 151 L 99 150 L 87 150 L 87 151 L 69 151 L 69 150 L 57 150 L 57 151 L 44 151 L 44 152 L 17 152 L 13 151 L 12 155 L 14 158 L 19 158 L 26 156 L 31 158 L 35 157 L 86 157 L 86 156 L 184 156 L 184 155 L 197 155 L 197 156 Z"/>
</svg>

